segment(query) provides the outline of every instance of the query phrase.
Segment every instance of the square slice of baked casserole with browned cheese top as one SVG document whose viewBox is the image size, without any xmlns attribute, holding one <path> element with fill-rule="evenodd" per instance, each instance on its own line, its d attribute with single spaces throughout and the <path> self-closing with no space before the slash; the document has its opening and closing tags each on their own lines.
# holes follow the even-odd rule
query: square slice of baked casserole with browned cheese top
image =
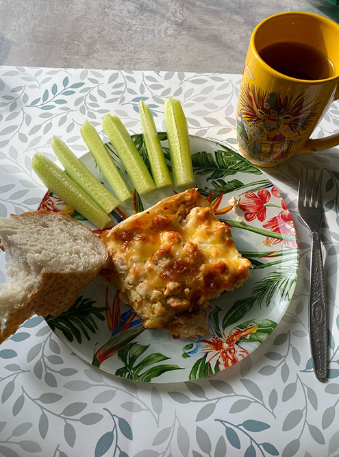
<svg viewBox="0 0 339 457">
<path fill-rule="evenodd" d="M 251 262 L 197 189 L 168 197 L 101 234 L 109 257 L 101 273 L 146 328 L 207 334 L 208 300 L 242 285 Z"/>
</svg>

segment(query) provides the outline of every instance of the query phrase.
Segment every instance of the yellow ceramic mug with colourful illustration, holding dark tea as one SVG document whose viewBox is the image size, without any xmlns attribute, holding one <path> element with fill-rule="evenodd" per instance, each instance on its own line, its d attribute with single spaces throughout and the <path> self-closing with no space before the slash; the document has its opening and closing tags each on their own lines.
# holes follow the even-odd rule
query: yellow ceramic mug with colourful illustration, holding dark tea
<svg viewBox="0 0 339 457">
<path fill-rule="evenodd" d="M 275 14 L 255 27 L 237 108 L 241 153 L 258 166 L 339 145 L 310 139 L 339 98 L 339 25 L 306 12 Z"/>
</svg>

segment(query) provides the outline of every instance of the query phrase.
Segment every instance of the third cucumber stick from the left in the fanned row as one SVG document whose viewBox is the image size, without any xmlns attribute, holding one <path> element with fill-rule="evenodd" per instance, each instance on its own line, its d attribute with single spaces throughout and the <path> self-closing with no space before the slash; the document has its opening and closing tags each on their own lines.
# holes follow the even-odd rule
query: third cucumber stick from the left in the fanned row
<svg viewBox="0 0 339 457">
<path fill-rule="evenodd" d="M 105 176 L 113 192 L 120 201 L 125 201 L 133 197 L 131 190 L 123 180 L 120 171 L 110 153 L 106 149 L 95 127 L 88 121 L 80 129 L 81 136 L 84 138 L 90 153 L 95 158 L 101 173 Z"/>
</svg>

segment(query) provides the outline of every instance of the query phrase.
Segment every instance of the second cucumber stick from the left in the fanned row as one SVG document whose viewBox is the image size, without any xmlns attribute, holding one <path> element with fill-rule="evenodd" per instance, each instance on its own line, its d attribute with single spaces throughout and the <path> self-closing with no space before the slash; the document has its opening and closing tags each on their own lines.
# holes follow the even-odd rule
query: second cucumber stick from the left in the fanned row
<svg viewBox="0 0 339 457">
<path fill-rule="evenodd" d="M 73 154 L 71 149 L 60 138 L 54 136 L 51 144 L 55 156 L 58 157 L 64 166 L 66 173 L 103 208 L 106 214 L 118 206 L 119 201 L 114 195 L 90 173 L 86 166 L 80 162 L 77 156 Z"/>
</svg>

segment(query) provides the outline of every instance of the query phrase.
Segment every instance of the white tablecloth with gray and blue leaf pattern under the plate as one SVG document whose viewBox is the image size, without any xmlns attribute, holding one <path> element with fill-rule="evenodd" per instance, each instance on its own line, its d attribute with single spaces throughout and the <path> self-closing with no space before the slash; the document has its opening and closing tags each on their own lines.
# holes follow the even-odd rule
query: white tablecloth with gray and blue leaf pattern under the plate
<svg viewBox="0 0 339 457">
<path fill-rule="evenodd" d="M 0 215 L 34 210 L 44 195 L 30 162 L 51 156 L 58 134 L 81 156 L 79 127 L 99 126 L 116 112 L 140 132 L 143 97 L 164 128 L 169 96 L 184 106 L 190 133 L 237 148 L 240 75 L 0 69 Z M 331 106 L 317 136 L 339 130 Z M 299 238 L 297 288 L 277 329 L 251 356 L 210 378 L 147 384 L 88 365 L 51 332 L 29 319 L 0 347 L 0 455 L 32 456 L 278 456 L 339 455 L 339 150 L 292 158 L 265 173 L 281 191 Z M 301 165 L 325 169 L 322 228 L 329 308 L 329 381 L 312 371 L 307 330 L 310 234 L 297 214 Z M 5 281 L 5 254 L 0 280 Z"/>
</svg>

